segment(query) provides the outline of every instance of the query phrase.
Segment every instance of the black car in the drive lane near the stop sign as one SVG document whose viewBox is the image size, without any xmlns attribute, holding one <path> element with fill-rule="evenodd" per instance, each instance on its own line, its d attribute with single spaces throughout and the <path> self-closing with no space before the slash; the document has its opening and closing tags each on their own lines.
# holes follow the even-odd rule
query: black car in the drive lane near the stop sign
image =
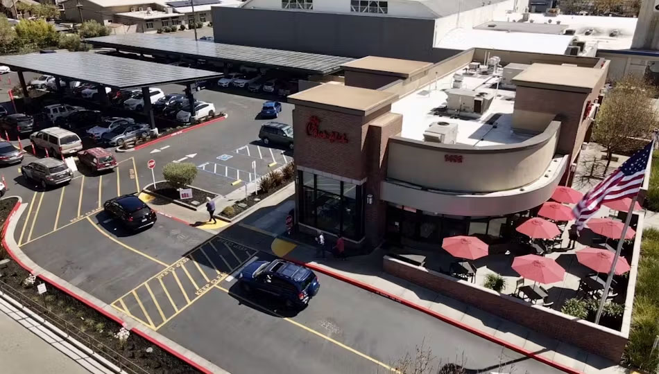
<svg viewBox="0 0 659 374">
<path fill-rule="evenodd" d="M 155 211 L 135 195 L 123 195 L 109 199 L 103 203 L 103 210 L 108 215 L 121 220 L 121 223 L 130 230 L 143 229 L 157 221 Z"/>
</svg>

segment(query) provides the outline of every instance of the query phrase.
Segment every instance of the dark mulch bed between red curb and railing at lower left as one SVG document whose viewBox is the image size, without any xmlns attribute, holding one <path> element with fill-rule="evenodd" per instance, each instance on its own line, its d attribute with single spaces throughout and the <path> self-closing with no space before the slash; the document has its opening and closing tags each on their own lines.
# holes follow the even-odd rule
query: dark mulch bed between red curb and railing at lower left
<svg viewBox="0 0 659 374">
<path fill-rule="evenodd" d="M 4 222 L 17 199 L 0 200 L 0 222 Z M 10 258 L 8 253 L 0 248 L 0 259 Z M 92 348 L 94 352 L 107 358 L 113 364 L 114 359 L 126 365 L 126 372 L 138 374 L 193 374 L 199 373 L 195 368 L 170 355 L 165 350 L 151 342 L 130 333 L 126 344 L 120 344 L 114 337 L 121 329 L 119 323 L 108 319 L 93 308 L 61 292 L 47 282 L 37 278 L 31 286 L 24 286 L 24 280 L 30 273 L 14 261 L 0 269 L 0 282 L 13 290 L 3 287 L 8 294 L 27 305 L 33 312 L 49 320 L 60 330 L 67 331 L 78 341 Z M 45 296 L 37 293 L 37 285 L 46 283 Z M 45 304 L 45 306 L 44 306 Z M 90 339 L 91 338 L 91 339 Z M 147 349 L 151 348 L 150 353 Z M 120 355 L 120 356 L 119 356 Z"/>
</svg>

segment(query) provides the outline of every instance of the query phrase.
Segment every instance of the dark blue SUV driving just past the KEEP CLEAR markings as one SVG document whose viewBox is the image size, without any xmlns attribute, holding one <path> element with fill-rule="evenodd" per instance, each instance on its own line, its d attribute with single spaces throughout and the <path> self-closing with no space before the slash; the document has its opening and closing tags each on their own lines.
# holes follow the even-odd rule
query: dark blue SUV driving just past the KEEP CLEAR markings
<svg viewBox="0 0 659 374">
<path fill-rule="evenodd" d="M 297 308 L 304 308 L 320 288 L 313 271 L 280 259 L 252 262 L 240 272 L 238 279 L 246 292 L 266 292 L 284 299 L 286 306 Z"/>
</svg>

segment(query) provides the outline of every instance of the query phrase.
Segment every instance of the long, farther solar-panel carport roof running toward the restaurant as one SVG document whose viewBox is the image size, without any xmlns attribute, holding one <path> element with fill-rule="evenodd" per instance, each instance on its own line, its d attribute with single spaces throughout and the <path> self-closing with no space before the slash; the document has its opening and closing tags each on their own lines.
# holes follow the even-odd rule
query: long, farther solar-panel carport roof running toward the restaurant
<svg viewBox="0 0 659 374">
<path fill-rule="evenodd" d="M 192 39 L 184 37 L 149 35 L 144 33 L 92 37 L 85 39 L 85 43 L 94 46 L 117 48 L 123 51 L 137 51 L 150 55 L 177 53 L 196 59 L 268 66 L 309 74 L 334 73 L 341 70 L 341 65 L 354 60 L 350 57 L 204 41 L 195 42 Z"/>
</svg>

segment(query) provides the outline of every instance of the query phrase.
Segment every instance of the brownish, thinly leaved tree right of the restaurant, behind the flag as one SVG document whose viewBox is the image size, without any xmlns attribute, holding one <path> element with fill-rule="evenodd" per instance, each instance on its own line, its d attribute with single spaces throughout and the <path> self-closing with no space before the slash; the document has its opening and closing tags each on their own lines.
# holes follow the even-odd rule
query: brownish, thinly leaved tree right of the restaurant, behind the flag
<svg viewBox="0 0 659 374">
<path fill-rule="evenodd" d="M 614 153 L 639 148 L 635 138 L 647 138 L 657 126 L 652 98 L 656 89 L 644 78 L 626 75 L 615 83 L 597 113 L 594 141 L 606 148 L 606 168 Z"/>
</svg>

